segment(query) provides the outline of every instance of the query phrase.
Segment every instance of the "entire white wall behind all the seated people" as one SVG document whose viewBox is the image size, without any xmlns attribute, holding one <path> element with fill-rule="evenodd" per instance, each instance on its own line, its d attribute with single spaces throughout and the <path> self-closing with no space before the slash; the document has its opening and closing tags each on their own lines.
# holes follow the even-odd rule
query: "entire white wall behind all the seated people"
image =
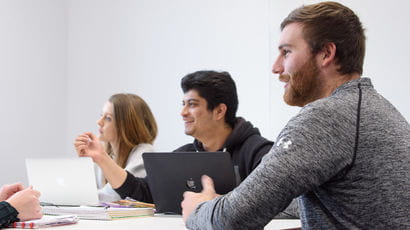
<svg viewBox="0 0 410 230">
<path fill-rule="evenodd" d="M 238 115 L 275 139 L 298 111 L 282 101 L 283 84 L 270 72 L 279 24 L 312 2 L 1 1 L 0 30 L 10 37 L 0 37 L 0 95 L 7 108 L 0 137 L 10 166 L 2 166 L 0 182 L 25 178 L 27 156 L 74 156 L 75 136 L 97 131 L 102 105 L 118 92 L 150 104 L 159 125 L 157 150 L 190 142 L 179 116 L 179 83 L 200 69 L 229 71 L 238 87 Z M 340 2 L 367 30 L 364 75 L 409 120 L 410 2 Z M 9 171 L 16 174 L 5 176 Z"/>
</svg>

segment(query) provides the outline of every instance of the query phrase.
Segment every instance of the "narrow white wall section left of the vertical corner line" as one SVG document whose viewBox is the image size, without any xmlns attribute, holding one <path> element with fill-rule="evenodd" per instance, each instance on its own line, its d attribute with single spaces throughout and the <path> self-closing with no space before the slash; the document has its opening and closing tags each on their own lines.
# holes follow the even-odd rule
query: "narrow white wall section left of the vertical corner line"
<svg viewBox="0 0 410 230">
<path fill-rule="evenodd" d="M 0 184 L 65 151 L 66 18 L 64 1 L 0 1 Z"/>
</svg>

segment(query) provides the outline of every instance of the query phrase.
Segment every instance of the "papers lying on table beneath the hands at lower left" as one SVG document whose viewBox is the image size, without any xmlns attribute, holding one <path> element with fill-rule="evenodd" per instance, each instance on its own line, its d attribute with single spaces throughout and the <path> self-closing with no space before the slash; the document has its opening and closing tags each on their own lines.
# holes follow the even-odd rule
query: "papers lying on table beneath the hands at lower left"
<svg viewBox="0 0 410 230">
<path fill-rule="evenodd" d="M 78 222 L 76 215 L 64 216 L 43 216 L 41 219 L 20 221 L 10 224 L 10 228 L 45 228 L 52 226 L 60 226 L 67 224 L 75 224 Z"/>
</svg>

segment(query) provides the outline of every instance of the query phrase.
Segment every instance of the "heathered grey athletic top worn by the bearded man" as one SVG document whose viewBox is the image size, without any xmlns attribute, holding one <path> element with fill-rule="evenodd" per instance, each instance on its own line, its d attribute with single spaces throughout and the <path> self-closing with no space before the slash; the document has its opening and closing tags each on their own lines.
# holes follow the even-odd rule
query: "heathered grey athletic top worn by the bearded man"
<svg viewBox="0 0 410 230">
<path fill-rule="evenodd" d="M 410 229 L 410 126 L 368 78 L 301 109 L 232 192 L 189 229 L 262 229 L 299 197 L 304 229 Z"/>
</svg>

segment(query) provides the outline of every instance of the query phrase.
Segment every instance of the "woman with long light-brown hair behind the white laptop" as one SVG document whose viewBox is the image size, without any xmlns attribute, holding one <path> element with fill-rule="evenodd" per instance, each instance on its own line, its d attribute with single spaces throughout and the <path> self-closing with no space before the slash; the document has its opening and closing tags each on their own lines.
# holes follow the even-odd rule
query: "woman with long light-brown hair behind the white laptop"
<svg viewBox="0 0 410 230">
<path fill-rule="evenodd" d="M 136 177 L 146 175 L 141 155 L 154 151 L 157 124 L 147 103 L 135 94 L 112 95 L 97 124 L 98 138 L 86 132 L 76 138 L 74 146 L 79 156 L 91 157 L 101 169 L 97 172 L 100 201 L 119 200 L 111 184 L 105 182 L 118 168 Z M 84 151 L 84 146 L 95 151 Z"/>
</svg>

